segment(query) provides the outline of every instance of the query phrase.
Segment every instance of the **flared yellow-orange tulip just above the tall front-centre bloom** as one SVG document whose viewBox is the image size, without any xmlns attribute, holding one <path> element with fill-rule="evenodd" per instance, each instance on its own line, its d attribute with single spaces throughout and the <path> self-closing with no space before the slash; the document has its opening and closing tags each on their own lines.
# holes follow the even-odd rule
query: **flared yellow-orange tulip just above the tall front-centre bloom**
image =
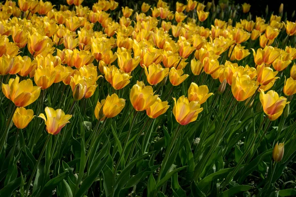
<svg viewBox="0 0 296 197">
<path fill-rule="evenodd" d="M 150 85 L 158 84 L 169 74 L 169 68 L 162 68 L 160 64 L 156 65 L 153 63 L 148 66 L 148 69 L 144 66 L 144 69 Z"/>
</svg>

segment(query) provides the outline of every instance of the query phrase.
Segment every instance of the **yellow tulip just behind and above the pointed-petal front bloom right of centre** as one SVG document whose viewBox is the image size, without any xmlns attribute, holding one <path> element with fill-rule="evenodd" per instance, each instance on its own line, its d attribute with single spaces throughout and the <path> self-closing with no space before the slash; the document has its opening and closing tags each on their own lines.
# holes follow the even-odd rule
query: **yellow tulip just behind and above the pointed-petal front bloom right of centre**
<svg viewBox="0 0 296 197">
<path fill-rule="evenodd" d="M 203 85 L 199 86 L 196 83 L 191 83 L 188 89 L 188 99 L 189 101 L 196 100 L 199 104 L 202 104 L 207 101 L 209 97 L 214 95 L 213 93 L 209 93 L 208 86 Z"/>
</svg>

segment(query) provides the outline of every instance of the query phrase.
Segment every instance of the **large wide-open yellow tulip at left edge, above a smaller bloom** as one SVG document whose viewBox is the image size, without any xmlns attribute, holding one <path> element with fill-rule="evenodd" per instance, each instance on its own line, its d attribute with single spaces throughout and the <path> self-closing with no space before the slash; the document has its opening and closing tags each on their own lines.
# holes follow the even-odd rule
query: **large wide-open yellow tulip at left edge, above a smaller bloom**
<svg viewBox="0 0 296 197">
<path fill-rule="evenodd" d="M 7 99 L 10 99 L 18 107 L 26 107 L 38 99 L 40 88 L 33 86 L 31 79 L 19 82 L 18 76 L 9 79 L 8 84 L 2 84 L 2 92 Z"/>
</svg>

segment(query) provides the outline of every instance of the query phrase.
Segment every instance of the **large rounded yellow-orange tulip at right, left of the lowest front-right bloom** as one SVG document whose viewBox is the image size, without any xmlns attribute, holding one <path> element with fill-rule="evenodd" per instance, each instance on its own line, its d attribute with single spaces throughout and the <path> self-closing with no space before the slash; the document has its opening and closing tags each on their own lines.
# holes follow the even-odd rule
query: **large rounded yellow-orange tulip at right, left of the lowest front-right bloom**
<svg viewBox="0 0 296 197">
<path fill-rule="evenodd" d="M 256 81 L 252 81 L 249 75 L 242 75 L 232 81 L 231 92 L 237 101 L 243 101 L 254 95 L 257 88 Z"/>
</svg>

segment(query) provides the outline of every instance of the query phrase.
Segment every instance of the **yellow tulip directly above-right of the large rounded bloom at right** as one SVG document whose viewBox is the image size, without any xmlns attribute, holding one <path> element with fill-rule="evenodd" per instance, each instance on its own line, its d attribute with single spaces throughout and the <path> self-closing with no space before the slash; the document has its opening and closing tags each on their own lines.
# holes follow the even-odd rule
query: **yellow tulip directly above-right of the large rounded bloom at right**
<svg viewBox="0 0 296 197">
<path fill-rule="evenodd" d="M 264 64 L 257 66 L 257 81 L 260 85 L 266 86 L 279 77 L 276 77 L 278 72 L 274 72 L 271 67 L 265 67 Z"/>
</svg>

